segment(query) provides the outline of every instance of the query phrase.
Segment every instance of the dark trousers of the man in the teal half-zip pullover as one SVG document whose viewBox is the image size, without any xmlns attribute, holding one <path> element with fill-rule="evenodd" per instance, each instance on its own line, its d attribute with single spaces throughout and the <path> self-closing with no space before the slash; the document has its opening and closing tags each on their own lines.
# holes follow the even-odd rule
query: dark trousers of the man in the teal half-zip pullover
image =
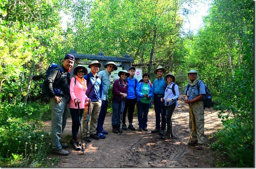
<svg viewBox="0 0 256 169">
<path fill-rule="evenodd" d="M 164 97 L 164 96 L 163 96 Z M 161 102 L 161 98 L 154 97 L 154 107 L 155 107 L 155 113 L 156 113 L 156 129 L 160 129 L 160 122 L 162 117 L 162 129 L 165 129 L 165 118 L 164 118 L 164 111 L 163 111 L 163 102 Z M 163 114 L 163 115 L 162 115 Z"/>
</svg>

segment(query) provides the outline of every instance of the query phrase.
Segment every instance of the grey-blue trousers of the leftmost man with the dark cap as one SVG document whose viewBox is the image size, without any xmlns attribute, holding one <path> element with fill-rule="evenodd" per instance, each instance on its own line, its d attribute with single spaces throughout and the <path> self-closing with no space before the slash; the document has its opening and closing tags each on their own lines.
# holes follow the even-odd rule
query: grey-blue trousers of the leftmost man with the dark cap
<svg viewBox="0 0 256 169">
<path fill-rule="evenodd" d="M 52 129 L 52 149 L 60 150 L 61 147 L 61 134 L 63 133 L 66 122 L 67 122 L 67 110 L 68 110 L 68 101 L 61 97 L 61 102 L 57 103 L 55 99 L 50 99 L 50 106 L 52 112 L 52 121 L 51 121 L 51 129 Z"/>
</svg>

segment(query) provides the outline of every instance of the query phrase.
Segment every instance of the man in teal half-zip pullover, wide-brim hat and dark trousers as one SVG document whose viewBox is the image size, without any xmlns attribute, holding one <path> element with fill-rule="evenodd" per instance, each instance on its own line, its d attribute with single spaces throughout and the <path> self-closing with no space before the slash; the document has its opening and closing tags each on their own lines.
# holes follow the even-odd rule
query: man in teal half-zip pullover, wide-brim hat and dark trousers
<svg viewBox="0 0 256 169">
<path fill-rule="evenodd" d="M 154 96 L 152 97 L 152 103 L 155 107 L 155 113 L 156 113 L 156 128 L 154 130 L 151 130 L 151 133 L 159 133 L 159 135 L 164 134 L 164 129 L 166 126 L 164 114 L 162 115 L 162 109 L 163 109 L 163 103 L 161 102 L 161 98 L 164 97 L 164 87 L 167 85 L 167 83 L 164 81 L 164 73 L 166 72 L 166 69 L 162 66 L 158 66 L 156 70 L 154 70 L 154 73 L 157 74 L 157 78 L 154 80 Z M 160 126 L 160 122 L 161 126 Z"/>
</svg>

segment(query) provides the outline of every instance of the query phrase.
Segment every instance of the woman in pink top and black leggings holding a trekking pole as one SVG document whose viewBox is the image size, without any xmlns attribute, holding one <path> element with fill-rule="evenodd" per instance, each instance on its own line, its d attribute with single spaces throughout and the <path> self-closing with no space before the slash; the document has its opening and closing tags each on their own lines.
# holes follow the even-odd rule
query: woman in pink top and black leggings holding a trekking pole
<svg viewBox="0 0 256 169">
<path fill-rule="evenodd" d="M 84 104 L 88 104 L 87 102 L 90 101 L 90 99 L 85 95 L 85 92 L 87 91 L 87 85 L 86 80 L 84 79 L 84 75 L 87 75 L 88 70 L 83 65 L 77 65 L 73 73 L 75 77 L 71 78 L 71 98 L 69 99 L 68 103 L 72 118 L 72 139 L 70 140 L 70 144 L 73 144 L 75 150 L 79 151 L 82 150 L 82 144 L 78 141 L 77 134 L 79 131 L 80 121 L 84 112 Z M 78 103 L 80 106 L 80 114 L 77 106 Z"/>
</svg>

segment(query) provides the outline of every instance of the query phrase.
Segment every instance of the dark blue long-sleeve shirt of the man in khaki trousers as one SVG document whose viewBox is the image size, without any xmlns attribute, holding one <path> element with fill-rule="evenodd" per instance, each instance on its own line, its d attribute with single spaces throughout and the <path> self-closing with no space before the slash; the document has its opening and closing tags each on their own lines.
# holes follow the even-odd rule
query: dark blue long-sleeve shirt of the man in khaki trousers
<svg viewBox="0 0 256 169">
<path fill-rule="evenodd" d="M 102 96 L 103 96 L 103 81 L 101 80 L 102 77 L 98 77 L 96 79 L 96 83 L 92 89 L 92 92 L 90 93 L 90 95 L 88 95 L 89 91 L 92 88 L 92 85 L 94 84 L 94 80 L 95 77 L 92 75 L 92 72 L 88 73 L 90 74 L 90 82 L 87 85 L 87 91 L 86 91 L 86 96 L 91 99 L 91 101 L 99 101 L 102 100 Z M 96 76 L 99 76 L 99 74 L 97 73 Z M 84 75 L 84 79 L 87 80 L 87 75 Z"/>
</svg>

